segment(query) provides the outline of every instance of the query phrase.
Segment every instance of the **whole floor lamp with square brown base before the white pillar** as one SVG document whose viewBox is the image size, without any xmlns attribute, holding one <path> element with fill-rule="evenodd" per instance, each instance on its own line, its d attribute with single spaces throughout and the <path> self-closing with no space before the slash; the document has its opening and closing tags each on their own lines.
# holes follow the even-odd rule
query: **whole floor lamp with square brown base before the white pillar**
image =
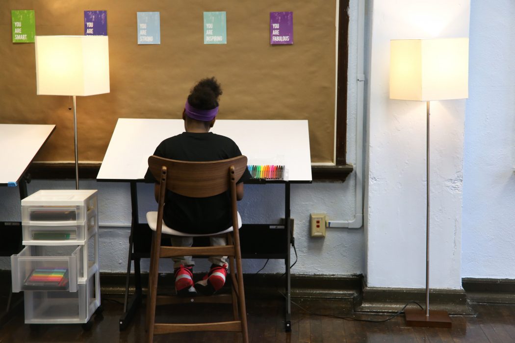
<svg viewBox="0 0 515 343">
<path fill-rule="evenodd" d="M 406 309 L 408 326 L 450 328 L 446 311 L 429 307 L 430 101 L 468 98 L 467 38 L 390 41 L 390 99 L 426 101 L 425 311 Z"/>
</svg>

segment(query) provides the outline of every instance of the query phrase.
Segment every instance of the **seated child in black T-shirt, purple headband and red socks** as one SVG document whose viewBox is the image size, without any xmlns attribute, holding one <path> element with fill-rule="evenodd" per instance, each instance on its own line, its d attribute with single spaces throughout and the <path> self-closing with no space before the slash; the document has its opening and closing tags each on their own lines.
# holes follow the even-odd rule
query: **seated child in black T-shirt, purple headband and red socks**
<svg viewBox="0 0 515 343">
<path fill-rule="evenodd" d="M 182 119 L 184 129 L 180 135 L 163 140 L 154 155 L 182 161 L 214 161 L 241 156 L 234 141 L 225 136 L 209 132 L 218 113 L 218 99 L 222 94 L 220 84 L 214 77 L 200 80 L 192 89 L 184 105 Z M 245 170 L 236 185 L 237 200 L 243 198 L 243 182 L 249 179 Z M 158 200 L 159 184 L 150 171 L 146 179 L 156 182 L 155 194 Z M 192 198 L 166 191 L 164 223 L 184 233 L 214 233 L 232 226 L 230 193 L 225 192 L 207 198 Z M 234 224 L 237 227 L 237 224 Z M 192 246 L 193 237 L 171 238 L 173 246 Z M 227 245 L 224 237 L 210 237 L 212 246 Z M 210 295 L 218 291 L 227 276 L 227 256 L 211 256 L 211 269 L 201 281 L 193 284 L 191 256 L 174 257 L 175 287 L 178 295 L 194 296 L 197 291 Z"/>
</svg>

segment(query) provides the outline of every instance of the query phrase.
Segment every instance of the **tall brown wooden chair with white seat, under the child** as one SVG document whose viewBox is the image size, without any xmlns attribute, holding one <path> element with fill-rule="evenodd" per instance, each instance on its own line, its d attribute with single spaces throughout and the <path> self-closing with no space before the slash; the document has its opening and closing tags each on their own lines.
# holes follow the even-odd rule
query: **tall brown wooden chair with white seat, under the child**
<svg viewBox="0 0 515 343">
<path fill-rule="evenodd" d="M 191 234 L 184 234 L 168 228 L 163 223 L 163 206 L 165 191 L 167 189 L 190 197 L 208 197 L 229 190 L 231 195 L 232 221 L 233 223 L 238 224 L 238 228 L 241 227 L 241 219 L 239 219 L 236 205 L 236 182 L 243 175 L 243 172 L 247 167 L 247 157 L 239 156 L 212 162 L 186 162 L 150 156 L 148 158 L 148 166 L 152 175 L 156 180 L 159 180 L 160 188 L 157 213 L 147 213 L 149 226 L 155 231 L 153 232 L 150 252 L 149 294 L 147 296 L 147 315 L 145 320 L 147 342 L 152 342 L 153 335 L 158 334 L 188 331 L 229 331 L 241 332 L 243 342 L 248 343 L 249 339 L 247 332 L 245 293 L 243 288 L 242 257 L 239 249 L 238 230 L 233 230 L 231 227 L 222 232 L 199 235 L 214 236 L 220 233 L 229 232 L 227 241 L 228 245 L 226 246 L 161 246 L 161 233 L 176 234 L 177 236 L 193 236 Z M 156 305 L 186 301 L 190 302 L 190 298 L 184 299 L 175 297 L 175 300 L 170 300 L 169 296 L 166 297 L 166 299 L 163 299 L 164 297 L 157 296 L 159 259 L 161 257 L 190 255 L 229 257 L 229 268 L 232 280 L 231 294 L 197 297 L 195 298 L 195 302 L 232 303 L 234 316 L 233 321 L 195 324 L 155 323 Z M 234 260 L 236 260 L 236 266 L 234 266 Z"/>
</svg>

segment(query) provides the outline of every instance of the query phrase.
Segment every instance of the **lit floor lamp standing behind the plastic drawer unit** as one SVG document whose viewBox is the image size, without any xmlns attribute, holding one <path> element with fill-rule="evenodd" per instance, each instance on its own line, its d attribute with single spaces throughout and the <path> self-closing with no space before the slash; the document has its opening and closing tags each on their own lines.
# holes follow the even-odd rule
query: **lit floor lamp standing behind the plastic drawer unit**
<svg viewBox="0 0 515 343">
<path fill-rule="evenodd" d="M 75 187 L 79 189 L 76 96 L 109 93 L 107 36 L 36 36 L 38 95 L 73 97 Z"/>
</svg>

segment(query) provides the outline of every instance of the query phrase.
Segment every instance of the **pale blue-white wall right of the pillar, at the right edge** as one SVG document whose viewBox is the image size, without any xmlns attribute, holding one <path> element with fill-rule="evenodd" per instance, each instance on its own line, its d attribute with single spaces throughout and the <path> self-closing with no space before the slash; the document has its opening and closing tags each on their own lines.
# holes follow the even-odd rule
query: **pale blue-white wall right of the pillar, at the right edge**
<svg viewBox="0 0 515 343">
<path fill-rule="evenodd" d="M 515 3 L 470 11 L 461 275 L 515 278 Z"/>
</svg>

